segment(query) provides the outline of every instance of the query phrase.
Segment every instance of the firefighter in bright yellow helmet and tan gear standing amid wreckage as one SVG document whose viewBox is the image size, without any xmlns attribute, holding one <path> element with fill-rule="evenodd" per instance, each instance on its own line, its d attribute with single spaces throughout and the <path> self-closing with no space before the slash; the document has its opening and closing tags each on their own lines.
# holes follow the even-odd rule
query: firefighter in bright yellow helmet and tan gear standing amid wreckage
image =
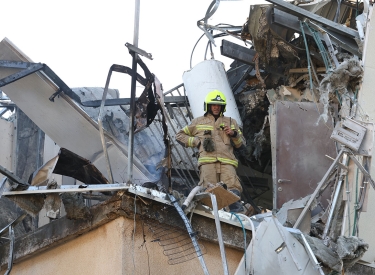
<svg viewBox="0 0 375 275">
<path fill-rule="evenodd" d="M 240 197 L 242 187 L 236 173 L 238 160 L 233 154 L 233 146 L 239 148 L 245 141 L 236 120 L 224 116 L 226 103 L 222 92 L 213 90 L 208 93 L 204 101 L 205 114 L 181 129 L 176 140 L 185 147 L 199 149 L 199 185 L 206 188 L 209 183 L 221 181 Z M 238 213 L 244 209 L 240 202 L 236 202 L 229 205 L 229 210 Z"/>
</svg>

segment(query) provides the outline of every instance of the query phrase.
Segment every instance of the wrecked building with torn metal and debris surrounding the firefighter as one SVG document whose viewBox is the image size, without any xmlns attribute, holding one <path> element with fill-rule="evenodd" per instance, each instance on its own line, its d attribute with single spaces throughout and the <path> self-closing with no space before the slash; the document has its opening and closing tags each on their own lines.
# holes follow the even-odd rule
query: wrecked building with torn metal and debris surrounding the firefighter
<svg viewBox="0 0 375 275">
<path fill-rule="evenodd" d="M 70 88 L 0 42 L 0 274 L 374 274 L 373 3 L 267 1 L 242 26 L 208 24 L 213 1 L 197 25 L 233 62 L 169 90 L 129 43 L 132 68 Z M 243 213 L 176 141 L 213 89 L 246 139 Z"/>
</svg>

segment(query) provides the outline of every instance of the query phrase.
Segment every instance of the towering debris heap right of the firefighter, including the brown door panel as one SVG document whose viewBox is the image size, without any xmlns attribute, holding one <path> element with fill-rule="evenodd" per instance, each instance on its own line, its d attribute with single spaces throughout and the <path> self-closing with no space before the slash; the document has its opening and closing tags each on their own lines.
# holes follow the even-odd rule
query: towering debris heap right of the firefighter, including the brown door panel
<svg viewBox="0 0 375 275">
<path fill-rule="evenodd" d="M 307 242 L 301 243 L 314 252 L 325 274 L 341 273 L 369 247 L 358 234 L 358 203 L 363 205 L 368 183 L 375 188 L 371 153 L 361 149 L 373 147 L 373 123 L 358 96 L 372 4 L 269 2 L 250 7 L 237 37 L 245 47 L 225 41 L 221 50 L 235 59 L 228 78 L 241 103 L 248 151 L 257 160 L 244 164 L 263 172 L 262 163 L 272 162 L 279 222 L 304 234 Z M 366 131 L 368 140 L 362 138 Z M 354 178 L 356 170 L 362 180 Z M 255 265 L 256 270 L 265 269 Z"/>
</svg>

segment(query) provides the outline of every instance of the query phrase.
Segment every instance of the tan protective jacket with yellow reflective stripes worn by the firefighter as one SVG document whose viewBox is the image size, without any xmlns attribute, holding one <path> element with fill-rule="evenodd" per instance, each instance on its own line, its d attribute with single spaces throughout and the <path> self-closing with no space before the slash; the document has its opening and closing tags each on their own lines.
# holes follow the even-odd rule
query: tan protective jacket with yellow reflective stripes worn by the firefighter
<svg viewBox="0 0 375 275">
<path fill-rule="evenodd" d="M 230 137 L 225 134 L 224 126 L 230 126 L 235 135 Z M 204 150 L 203 142 L 205 138 L 212 138 L 215 144 L 213 152 Z M 233 146 L 239 148 L 242 144 L 245 144 L 235 119 L 220 116 L 215 121 L 215 117 L 210 113 L 193 119 L 190 125 L 185 126 L 177 133 L 176 140 L 185 147 L 199 146 L 198 166 L 219 161 L 237 168 L 238 161 L 233 154 Z"/>
</svg>

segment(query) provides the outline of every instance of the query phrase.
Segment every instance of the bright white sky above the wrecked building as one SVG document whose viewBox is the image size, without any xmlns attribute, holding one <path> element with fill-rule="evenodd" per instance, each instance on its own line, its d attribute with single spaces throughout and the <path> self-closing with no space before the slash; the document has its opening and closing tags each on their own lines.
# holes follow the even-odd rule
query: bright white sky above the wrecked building
<svg viewBox="0 0 375 275">
<path fill-rule="evenodd" d="M 47 64 L 69 87 L 104 87 L 112 64 L 131 68 L 125 43 L 133 44 L 135 0 L 2 2 L 0 40 L 7 37 L 33 62 Z M 181 84 L 183 72 L 190 69 L 191 52 L 203 34 L 197 21 L 211 2 L 140 0 L 138 47 L 152 54 L 153 60 L 141 58 L 159 78 L 164 92 Z M 250 5 L 258 2 L 221 1 L 208 23 L 242 26 Z M 244 46 L 238 39 L 225 39 Z M 207 41 L 204 37 L 199 42 L 193 67 L 204 60 Z M 216 45 L 215 59 L 228 69 L 233 60 L 221 56 L 221 40 Z M 130 79 L 113 73 L 110 88 L 118 89 L 121 97 L 130 97 Z M 142 87 L 137 87 L 139 94 Z"/>
</svg>

